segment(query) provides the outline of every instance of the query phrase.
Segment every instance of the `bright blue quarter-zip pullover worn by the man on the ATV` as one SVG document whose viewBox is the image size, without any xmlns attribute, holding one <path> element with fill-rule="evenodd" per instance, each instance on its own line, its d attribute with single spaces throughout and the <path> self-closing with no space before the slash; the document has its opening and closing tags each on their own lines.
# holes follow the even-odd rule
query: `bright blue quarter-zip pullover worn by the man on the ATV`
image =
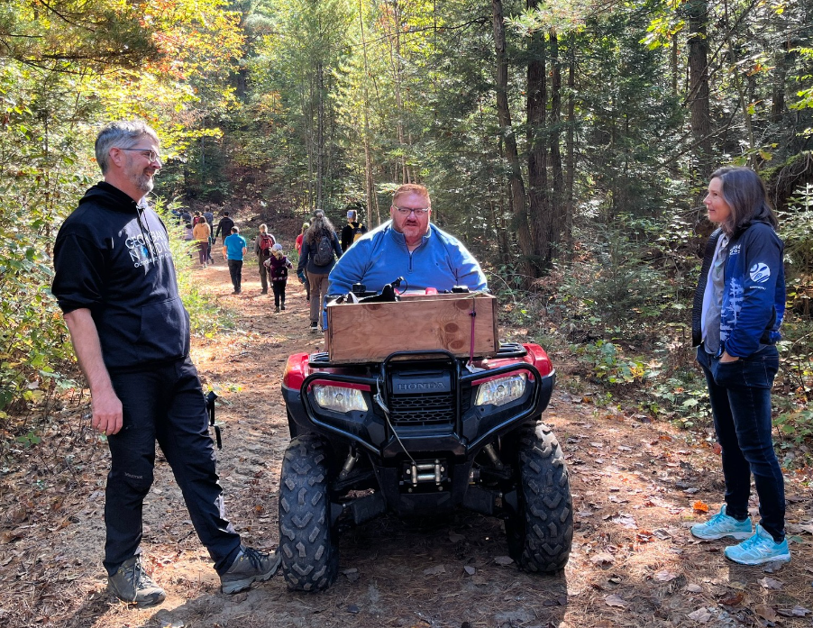
<svg viewBox="0 0 813 628">
<path fill-rule="evenodd" d="M 441 291 L 454 286 L 467 286 L 471 291 L 488 289 L 477 259 L 457 238 L 430 223 L 429 232 L 410 253 L 404 234 L 395 231 L 389 221 L 344 251 L 328 278 L 327 294 L 346 294 L 355 283 L 377 292 L 399 277 L 406 279 L 401 290 L 435 287 Z"/>
</svg>

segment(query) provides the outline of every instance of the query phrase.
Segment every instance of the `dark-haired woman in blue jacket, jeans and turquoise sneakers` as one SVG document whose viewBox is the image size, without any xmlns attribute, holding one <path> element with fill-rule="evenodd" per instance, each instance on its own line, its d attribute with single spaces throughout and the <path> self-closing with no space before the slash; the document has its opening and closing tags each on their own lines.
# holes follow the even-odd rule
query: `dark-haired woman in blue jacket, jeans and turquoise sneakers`
<svg viewBox="0 0 813 628">
<path fill-rule="evenodd" d="M 726 505 L 692 526 L 699 539 L 743 539 L 726 557 L 744 565 L 790 560 L 784 479 L 771 436 L 771 387 L 779 370 L 785 312 L 782 241 L 762 179 L 749 168 L 720 168 L 704 199 L 711 234 L 692 313 L 692 338 L 706 375 L 722 448 Z M 751 476 L 760 523 L 748 515 Z"/>
</svg>

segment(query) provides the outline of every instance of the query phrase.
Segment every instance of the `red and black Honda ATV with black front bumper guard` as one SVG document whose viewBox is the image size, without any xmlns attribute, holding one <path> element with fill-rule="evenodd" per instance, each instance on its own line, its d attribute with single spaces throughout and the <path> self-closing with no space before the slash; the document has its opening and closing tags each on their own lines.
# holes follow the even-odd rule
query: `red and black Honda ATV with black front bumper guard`
<svg viewBox="0 0 813 628">
<path fill-rule="evenodd" d="M 397 351 L 373 363 L 288 358 L 282 395 L 291 442 L 279 486 L 279 551 L 292 590 L 329 587 L 337 523 L 468 509 L 505 521 L 521 569 L 568 561 L 573 511 L 559 442 L 540 415 L 553 392 L 536 344 L 491 358 Z"/>
</svg>

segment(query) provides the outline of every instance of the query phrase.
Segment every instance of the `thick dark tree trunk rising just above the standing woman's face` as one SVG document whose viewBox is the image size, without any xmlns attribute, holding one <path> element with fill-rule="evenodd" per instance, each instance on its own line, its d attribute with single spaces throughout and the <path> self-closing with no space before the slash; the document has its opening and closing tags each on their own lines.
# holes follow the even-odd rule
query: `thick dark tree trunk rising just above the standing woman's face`
<svg viewBox="0 0 813 628">
<path fill-rule="evenodd" d="M 691 131 L 695 139 L 698 176 L 704 181 L 712 170 L 711 114 L 708 106 L 708 4 L 689 0 L 689 96 Z"/>
</svg>

